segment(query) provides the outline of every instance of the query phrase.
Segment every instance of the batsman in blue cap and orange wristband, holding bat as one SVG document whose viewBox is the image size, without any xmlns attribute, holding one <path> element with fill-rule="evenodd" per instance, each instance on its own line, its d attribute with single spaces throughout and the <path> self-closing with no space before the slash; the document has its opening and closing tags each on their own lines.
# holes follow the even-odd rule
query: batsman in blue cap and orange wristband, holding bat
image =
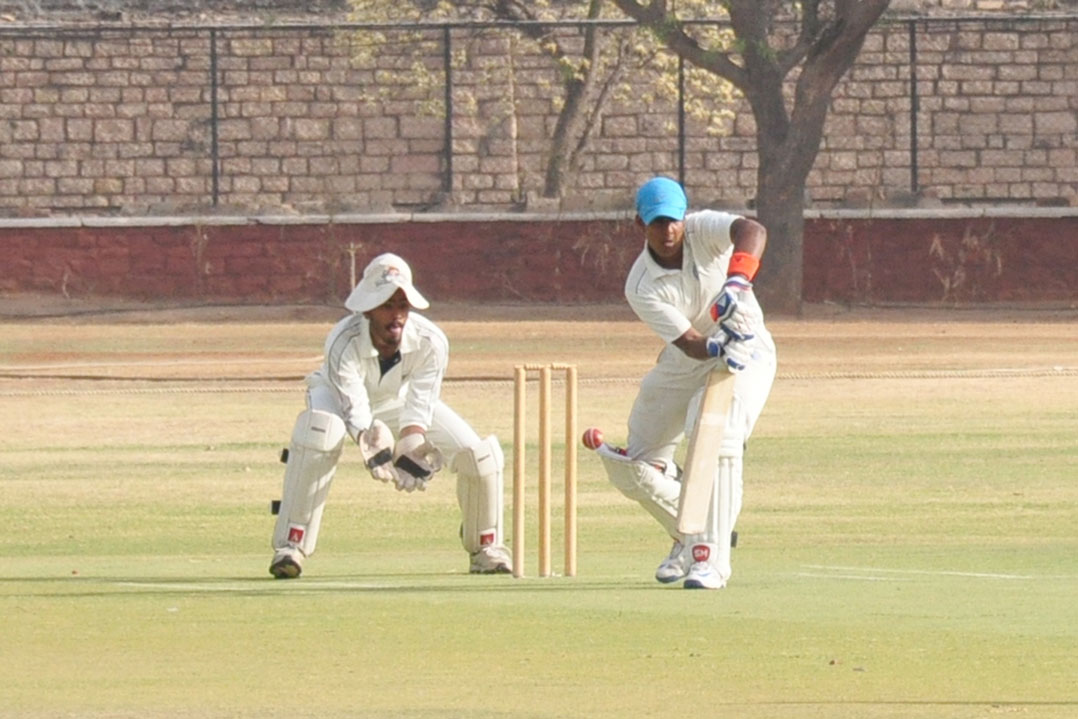
<svg viewBox="0 0 1078 719">
<path fill-rule="evenodd" d="M 652 178 L 636 193 L 645 246 L 625 298 L 665 346 L 640 384 L 626 446 L 596 452 L 610 482 L 673 540 L 655 579 L 714 590 L 732 571 L 745 447 L 771 392 L 776 355 L 752 293 L 763 225 L 687 209 L 685 190 L 668 178 Z M 686 435 L 692 439 L 682 474 L 675 453 Z"/>
</svg>

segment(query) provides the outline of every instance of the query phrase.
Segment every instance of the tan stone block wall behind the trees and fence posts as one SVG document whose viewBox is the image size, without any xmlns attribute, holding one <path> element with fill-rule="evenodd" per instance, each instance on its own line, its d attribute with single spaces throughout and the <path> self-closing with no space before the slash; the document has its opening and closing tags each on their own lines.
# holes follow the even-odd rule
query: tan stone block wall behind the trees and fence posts
<svg viewBox="0 0 1078 719">
<path fill-rule="evenodd" d="M 834 95 L 815 206 L 1078 203 L 1076 30 L 1062 17 L 881 24 Z M 0 26 L 0 213 L 529 206 L 557 105 L 543 60 L 508 37 L 472 42 L 447 158 L 445 122 L 415 101 L 442 88 L 381 96 L 400 58 L 384 49 L 363 66 L 356 42 L 312 26 Z M 441 31 L 423 42 L 437 69 Z M 640 178 L 677 174 L 676 105 L 634 100 L 603 117 L 563 209 L 624 207 Z M 754 195 L 751 113 L 736 110 L 721 137 L 688 123 L 699 205 Z"/>
</svg>

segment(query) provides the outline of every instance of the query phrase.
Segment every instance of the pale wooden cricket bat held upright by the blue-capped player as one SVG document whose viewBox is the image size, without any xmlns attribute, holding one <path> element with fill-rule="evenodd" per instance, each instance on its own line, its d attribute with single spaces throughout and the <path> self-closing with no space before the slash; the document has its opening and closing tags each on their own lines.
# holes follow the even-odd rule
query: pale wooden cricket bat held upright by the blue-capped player
<svg viewBox="0 0 1078 719">
<path fill-rule="evenodd" d="M 734 375 L 718 368 L 707 375 L 700 401 L 700 414 L 689 439 L 681 495 L 678 497 L 677 530 L 682 535 L 704 534 L 718 472 L 719 446 L 727 429 L 727 414 L 734 396 Z"/>
</svg>

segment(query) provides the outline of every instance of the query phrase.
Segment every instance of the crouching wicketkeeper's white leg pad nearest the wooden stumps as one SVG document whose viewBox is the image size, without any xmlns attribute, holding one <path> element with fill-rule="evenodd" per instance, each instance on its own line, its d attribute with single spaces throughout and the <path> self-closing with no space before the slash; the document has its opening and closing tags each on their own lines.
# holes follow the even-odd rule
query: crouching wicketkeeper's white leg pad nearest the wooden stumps
<svg viewBox="0 0 1078 719">
<path fill-rule="evenodd" d="M 469 554 L 502 544 L 505 466 L 501 444 L 494 434 L 453 458 L 460 504 L 460 541 Z"/>
</svg>

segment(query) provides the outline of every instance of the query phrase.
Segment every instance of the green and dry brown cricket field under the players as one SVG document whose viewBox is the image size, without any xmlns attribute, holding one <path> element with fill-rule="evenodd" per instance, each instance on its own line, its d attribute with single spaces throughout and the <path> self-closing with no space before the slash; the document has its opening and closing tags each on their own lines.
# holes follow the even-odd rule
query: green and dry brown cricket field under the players
<svg viewBox="0 0 1078 719">
<path fill-rule="evenodd" d="M 584 451 L 576 578 L 469 576 L 452 475 L 398 494 L 353 448 L 274 581 L 277 376 L 328 321 L 2 323 L 0 717 L 1076 717 L 1078 317 L 901 318 L 772 322 L 719 592 L 653 581 L 668 540 Z M 509 456 L 513 361 L 578 362 L 580 427 L 620 441 L 657 348 L 620 316 L 444 327 L 446 399 Z"/>
</svg>

